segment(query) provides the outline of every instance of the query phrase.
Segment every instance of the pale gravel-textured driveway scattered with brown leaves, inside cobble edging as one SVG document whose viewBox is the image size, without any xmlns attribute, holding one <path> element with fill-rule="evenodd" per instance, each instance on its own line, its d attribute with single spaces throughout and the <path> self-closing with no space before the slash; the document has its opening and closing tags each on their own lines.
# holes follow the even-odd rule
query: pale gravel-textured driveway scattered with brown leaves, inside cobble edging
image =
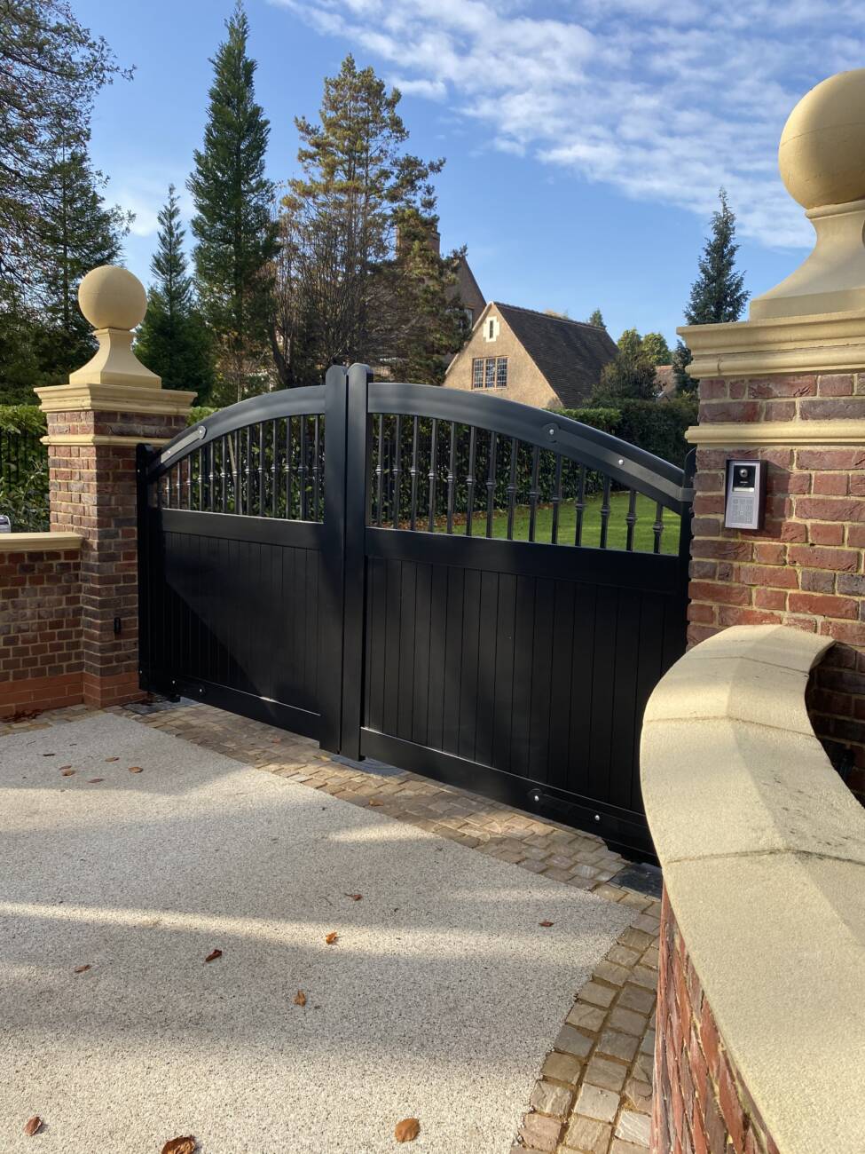
<svg viewBox="0 0 865 1154">
<path fill-rule="evenodd" d="M 627 920 L 126 718 L 12 734 L 0 1149 L 504 1154 Z"/>
</svg>

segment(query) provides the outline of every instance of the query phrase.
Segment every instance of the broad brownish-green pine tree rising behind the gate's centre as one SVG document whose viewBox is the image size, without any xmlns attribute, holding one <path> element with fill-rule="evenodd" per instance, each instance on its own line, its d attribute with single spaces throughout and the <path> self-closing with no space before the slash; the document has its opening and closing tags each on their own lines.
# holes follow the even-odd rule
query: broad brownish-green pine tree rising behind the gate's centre
<svg viewBox="0 0 865 1154">
<path fill-rule="evenodd" d="M 324 82 L 318 123 L 295 123 L 303 175 L 289 181 L 273 347 L 285 384 L 332 361 L 441 383 L 467 335 L 456 294 L 460 253 L 435 241 L 431 178 L 443 160 L 404 152 L 400 93 L 349 55 Z"/>
</svg>

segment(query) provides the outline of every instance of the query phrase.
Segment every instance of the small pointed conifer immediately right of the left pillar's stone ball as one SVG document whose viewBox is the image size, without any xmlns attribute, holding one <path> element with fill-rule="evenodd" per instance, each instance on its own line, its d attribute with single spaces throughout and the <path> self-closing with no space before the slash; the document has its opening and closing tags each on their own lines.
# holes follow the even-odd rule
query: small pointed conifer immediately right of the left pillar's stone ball
<svg viewBox="0 0 865 1154">
<path fill-rule="evenodd" d="M 180 224 L 174 185 L 168 186 L 168 200 L 158 219 L 157 250 L 150 262 L 155 284 L 148 293 L 148 312 L 138 329 L 135 353 L 163 379 L 163 388 L 194 390 L 201 404 L 213 385 L 213 357 L 187 272 L 186 231 Z"/>
</svg>

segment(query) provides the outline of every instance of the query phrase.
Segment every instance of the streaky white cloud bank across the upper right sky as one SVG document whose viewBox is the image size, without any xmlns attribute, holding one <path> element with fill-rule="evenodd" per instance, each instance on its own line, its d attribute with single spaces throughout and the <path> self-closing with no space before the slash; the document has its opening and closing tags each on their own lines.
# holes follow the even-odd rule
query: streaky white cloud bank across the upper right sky
<svg viewBox="0 0 865 1154">
<path fill-rule="evenodd" d="M 272 0 L 490 126 L 492 147 L 705 218 L 724 186 L 769 247 L 812 232 L 777 175 L 784 120 L 865 63 L 858 0 Z M 841 31 L 843 29 L 843 31 Z"/>
</svg>

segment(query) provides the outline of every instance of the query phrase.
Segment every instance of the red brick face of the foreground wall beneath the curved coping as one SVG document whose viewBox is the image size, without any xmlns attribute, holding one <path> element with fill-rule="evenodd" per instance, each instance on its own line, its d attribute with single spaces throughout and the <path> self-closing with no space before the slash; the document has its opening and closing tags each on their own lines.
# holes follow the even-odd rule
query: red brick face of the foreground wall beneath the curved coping
<svg viewBox="0 0 865 1154">
<path fill-rule="evenodd" d="M 719 1034 L 664 893 L 653 1154 L 778 1154 Z"/>
</svg>

